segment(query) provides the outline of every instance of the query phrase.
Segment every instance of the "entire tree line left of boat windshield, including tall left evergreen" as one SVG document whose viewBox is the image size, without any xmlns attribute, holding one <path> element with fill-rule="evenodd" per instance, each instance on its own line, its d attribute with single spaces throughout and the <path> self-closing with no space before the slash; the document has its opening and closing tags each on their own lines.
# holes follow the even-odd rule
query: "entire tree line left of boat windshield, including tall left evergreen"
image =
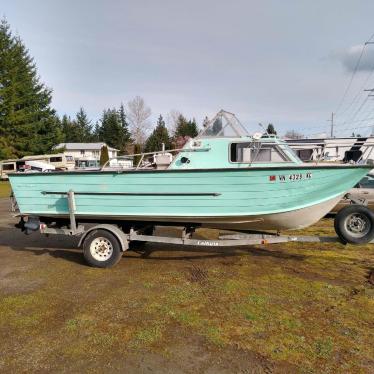
<svg viewBox="0 0 374 374">
<path fill-rule="evenodd" d="M 175 146 L 178 139 L 194 137 L 194 119 L 172 111 L 169 126 L 159 116 L 151 129 L 151 109 L 137 96 L 126 105 L 104 109 L 93 123 L 83 107 L 75 117 L 58 116 L 52 105 L 52 89 L 41 82 L 36 64 L 19 36 L 5 19 L 0 22 L 0 159 L 53 151 L 58 143 L 102 141 L 122 154 L 153 152 Z"/>
</svg>

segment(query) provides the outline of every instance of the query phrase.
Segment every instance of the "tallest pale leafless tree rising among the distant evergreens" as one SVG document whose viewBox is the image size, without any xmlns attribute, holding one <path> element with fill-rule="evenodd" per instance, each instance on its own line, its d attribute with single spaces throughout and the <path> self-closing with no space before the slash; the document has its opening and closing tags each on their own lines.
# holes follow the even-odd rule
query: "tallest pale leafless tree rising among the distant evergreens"
<svg viewBox="0 0 374 374">
<path fill-rule="evenodd" d="M 147 131 L 150 129 L 148 119 L 151 113 L 151 108 L 146 105 L 144 99 L 140 96 L 134 97 L 127 103 L 127 118 L 135 144 L 145 143 Z"/>
</svg>

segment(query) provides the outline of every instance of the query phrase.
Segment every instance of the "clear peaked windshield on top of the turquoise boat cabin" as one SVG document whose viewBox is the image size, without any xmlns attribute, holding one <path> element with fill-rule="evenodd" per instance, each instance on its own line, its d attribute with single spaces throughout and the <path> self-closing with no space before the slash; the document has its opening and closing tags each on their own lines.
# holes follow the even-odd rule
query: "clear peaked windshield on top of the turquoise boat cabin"
<svg viewBox="0 0 374 374">
<path fill-rule="evenodd" d="M 198 137 L 244 137 L 248 136 L 246 128 L 235 117 L 235 114 L 219 111 L 213 119 L 204 123 Z"/>
</svg>

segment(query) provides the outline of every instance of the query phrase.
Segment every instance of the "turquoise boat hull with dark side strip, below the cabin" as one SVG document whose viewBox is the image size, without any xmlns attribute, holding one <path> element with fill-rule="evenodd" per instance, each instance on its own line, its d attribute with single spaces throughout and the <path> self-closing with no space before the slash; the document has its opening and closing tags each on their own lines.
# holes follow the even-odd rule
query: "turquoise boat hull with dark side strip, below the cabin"
<svg viewBox="0 0 374 374">
<path fill-rule="evenodd" d="M 367 166 L 13 174 L 20 213 L 68 217 L 75 192 L 80 220 L 201 224 L 287 230 L 318 221 Z"/>
</svg>

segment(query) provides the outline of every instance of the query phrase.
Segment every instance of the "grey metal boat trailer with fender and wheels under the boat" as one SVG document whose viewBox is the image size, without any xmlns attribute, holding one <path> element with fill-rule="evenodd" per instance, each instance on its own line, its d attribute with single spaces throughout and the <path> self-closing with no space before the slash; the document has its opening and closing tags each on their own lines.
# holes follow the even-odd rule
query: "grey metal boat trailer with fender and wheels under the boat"
<svg viewBox="0 0 374 374">
<path fill-rule="evenodd" d="M 280 233 L 270 232 L 241 232 L 229 230 L 230 234 L 219 235 L 217 239 L 197 239 L 193 238 L 197 226 L 178 226 L 173 225 L 172 227 L 182 228 L 180 237 L 161 236 L 155 234 L 155 228 L 158 225 L 144 226 L 141 228 L 130 227 L 125 232 L 121 225 L 115 223 L 104 223 L 94 226 L 90 226 L 87 229 L 77 224 L 76 221 L 76 205 L 74 191 L 70 190 L 66 193 L 68 209 L 69 209 L 69 224 L 65 227 L 59 227 L 56 225 L 49 225 L 42 223 L 39 217 L 27 216 L 27 221 L 24 220 L 24 216 L 21 215 L 21 221 L 16 225 L 17 228 L 22 229 L 26 234 L 31 232 L 39 231 L 46 235 L 68 235 L 68 236 L 80 236 L 78 247 L 83 248 L 84 257 L 91 266 L 95 267 L 112 267 L 122 257 L 124 251 L 133 249 L 136 244 L 142 243 L 167 243 L 176 245 L 186 246 L 201 246 L 210 248 L 220 247 L 238 247 L 238 246 L 250 246 L 259 244 L 276 244 L 276 243 L 288 243 L 288 242 L 308 242 L 308 243 L 336 243 L 340 242 L 343 244 L 352 243 L 374 243 L 374 214 L 365 206 L 365 202 L 352 201 L 354 205 L 349 205 L 346 208 L 356 207 L 354 209 L 355 215 L 363 214 L 364 219 L 368 219 L 366 223 L 370 224 L 370 232 L 366 233 L 365 240 L 362 240 L 363 236 L 357 236 L 357 240 L 347 240 L 339 231 L 339 224 L 346 221 L 347 214 L 342 215 L 343 218 L 337 222 L 338 213 L 335 218 L 335 230 L 338 236 L 298 236 L 298 235 L 280 235 Z M 349 198 L 349 197 L 348 197 Z M 349 210 L 349 209 L 348 209 Z M 350 209 L 352 210 L 352 209 Z M 358 213 L 356 213 L 358 211 Z M 362 213 L 363 212 L 363 213 Z M 350 212 L 348 212 L 350 213 Z M 352 213 L 351 213 L 352 214 Z M 18 215 L 20 216 L 20 215 Z M 357 217 L 355 216 L 357 221 Z M 358 221 L 359 222 L 359 221 Z M 360 223 L 360 222 L 359 222 Z M 365 222 L 364 222 L 365 223 Z M 356 224 L 357 226 L 357 224 Z M 367 230 L 366 230 L 367 231 Z"/>
</svg>

